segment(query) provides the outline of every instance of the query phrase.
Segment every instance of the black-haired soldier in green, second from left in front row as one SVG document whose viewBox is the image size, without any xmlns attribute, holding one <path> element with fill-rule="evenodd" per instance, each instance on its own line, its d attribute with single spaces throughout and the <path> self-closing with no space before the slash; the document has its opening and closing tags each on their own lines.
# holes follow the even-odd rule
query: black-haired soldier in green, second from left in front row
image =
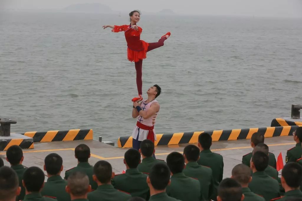
<svg viewBox="0 0 302 201">
<path fill-rule="evenodd" d="M 42 197 L 40 191 L 43 188 L 45 175 L 38 167 L 27 168 L 23 174 L 22 184 L 25 187 L 23 201 L 57 201 L 55 198 Z"/>
</svg>

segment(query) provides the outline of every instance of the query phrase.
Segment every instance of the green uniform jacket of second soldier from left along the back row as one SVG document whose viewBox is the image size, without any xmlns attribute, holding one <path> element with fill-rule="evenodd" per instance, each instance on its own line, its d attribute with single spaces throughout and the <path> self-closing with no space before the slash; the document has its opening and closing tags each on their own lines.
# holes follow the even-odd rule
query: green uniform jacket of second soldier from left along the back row
<svg viewBox="0 0 302 201">
<path fill-rule="evenodd" d="M 41 191 L 42 196 L 55 197 L 58 201 L 70 201 L 70 195 L 66 192 L 67 181 L 60 175 L 49 177 Z"/>
</svg>

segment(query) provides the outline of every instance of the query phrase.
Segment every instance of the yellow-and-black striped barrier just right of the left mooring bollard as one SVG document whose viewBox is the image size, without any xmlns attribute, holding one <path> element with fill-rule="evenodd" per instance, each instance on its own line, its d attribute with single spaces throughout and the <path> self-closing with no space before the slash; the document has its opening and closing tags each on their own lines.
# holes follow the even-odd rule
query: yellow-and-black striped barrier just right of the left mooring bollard
<svg viewBox="0 0 302 201">
<path fill-rule="evenodd" d="M 34 139 L 34 142 L 55 142 L 73 140 L 92 140 L 92 129 L 50 130 L 46 132 L 30 131 L 22 133 Z"/>
</svg>

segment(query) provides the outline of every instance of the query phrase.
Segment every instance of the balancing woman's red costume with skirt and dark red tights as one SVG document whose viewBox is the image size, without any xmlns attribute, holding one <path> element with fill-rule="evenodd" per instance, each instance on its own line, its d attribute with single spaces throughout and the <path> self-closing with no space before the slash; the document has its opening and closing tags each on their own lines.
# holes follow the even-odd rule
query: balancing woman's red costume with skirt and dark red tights
<svg viewBox="0 0 302 201">
<path fill-rule="evenodd" d="M 147 52 L 150 50 L 153 50 L 155 48 L 161 47 L 164 45 L 164 41 L 167 39 L 167 37 L 162 36 L 161 39 L 159 39 L 156 43 L 146 43 L 143 40 L 140 40 L 140 34 L 142 33 L 143 29 L 141 27 L 138 27 L 138 30 L 135 30 L 130 25 L 122 25 L 117 26 L 114 25 L 114 29 L 111 30 L 112 32 L 125 32 L 125 38 L 127 41 L 127 55 L 128 60 L 130 62 L 135 63 L 135 69 L 136 69 L 136 84 L 137 84 L 137 91 L 139 95 L 142 95 L 142 87 L 143 87 L 143 81 L 142 81 L 142 67 L 143 67 L 143 59 L 146 59 Z M 170 32 L 167 33 L 168 37 L 170 35 Z"/>
</svg>

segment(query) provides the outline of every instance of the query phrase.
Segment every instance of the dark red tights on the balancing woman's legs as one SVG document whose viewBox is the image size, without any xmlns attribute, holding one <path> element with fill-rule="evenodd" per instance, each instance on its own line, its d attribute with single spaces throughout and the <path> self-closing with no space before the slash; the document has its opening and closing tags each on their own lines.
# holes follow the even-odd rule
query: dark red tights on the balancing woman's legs
<svg viewBox="0 0 302 201">
<path fill-rule="evenodd" d="M 166 37 L 162 37 L 159 39 L 158 42 L 156 43 L 149 43 L 149 47 L 147 52 L 156 49 L 158 47 L 161 47 L 164 45 L 164 41 L 166 40 Z M 142 93 L 142 88 L 143 88 L 143 81 L 142 81 L 142 68 L 143 68 L 143 60 L 139 60 L 138 62 L 134 62 L 135 64 L 135 70 L 136 70 L 136 85 L 137 85 L 137 91 L 138 94 L 143 94 Z"/>
</svg>

